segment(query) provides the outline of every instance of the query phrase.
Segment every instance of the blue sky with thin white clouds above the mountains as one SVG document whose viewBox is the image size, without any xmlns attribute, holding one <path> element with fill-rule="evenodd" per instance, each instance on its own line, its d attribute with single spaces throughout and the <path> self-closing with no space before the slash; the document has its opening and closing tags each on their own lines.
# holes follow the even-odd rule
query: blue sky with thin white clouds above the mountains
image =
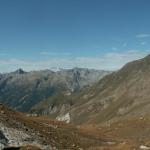
<svg viewBox="0 0 150 150">
<path fill-rule="evenodd" d="M 150 0 L 0 0 L 0 72 L 116 70 L 150 52 Z"/>
</svg>

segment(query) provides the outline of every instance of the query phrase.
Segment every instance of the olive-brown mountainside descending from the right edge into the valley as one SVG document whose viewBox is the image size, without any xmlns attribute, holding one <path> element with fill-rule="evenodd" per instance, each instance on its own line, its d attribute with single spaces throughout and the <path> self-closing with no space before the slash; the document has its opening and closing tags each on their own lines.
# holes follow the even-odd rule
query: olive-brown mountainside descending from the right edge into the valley
<svg viewBox="0 0 150 150">
<path fill-rule="evenodd" d="M 71 120 L 102 123 L 150 114 L 150 55 L 105 76 L 76 97 Z M 68 113 L 65 112 L 65 113 Z"/>
</svg>

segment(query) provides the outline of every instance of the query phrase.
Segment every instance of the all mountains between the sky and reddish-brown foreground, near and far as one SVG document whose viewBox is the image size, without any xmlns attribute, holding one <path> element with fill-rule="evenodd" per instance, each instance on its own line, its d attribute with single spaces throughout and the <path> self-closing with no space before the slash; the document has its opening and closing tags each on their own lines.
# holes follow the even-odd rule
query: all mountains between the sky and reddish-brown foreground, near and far
<svg viewBox="0 0 150 150">
<path fill-rule="evenodd" d="M 74 68 L 0 75 L 0 101 L 69 122 L 108 123 L 150 114 L 150 55 L 115 72 Z"/>
</svg>

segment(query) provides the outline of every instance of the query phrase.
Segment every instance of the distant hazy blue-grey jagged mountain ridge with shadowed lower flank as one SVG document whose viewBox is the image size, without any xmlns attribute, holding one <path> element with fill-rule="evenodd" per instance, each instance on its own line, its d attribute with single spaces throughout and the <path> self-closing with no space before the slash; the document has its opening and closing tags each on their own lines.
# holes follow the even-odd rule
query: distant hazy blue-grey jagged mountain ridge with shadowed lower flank
<svg viewBox="0 0 150 150">
<path fill-rule="evenodd" d="M 71 94 L 93 85 L 106 71 L 74 68 L 25 72 L 19 69 L 0 74 L 0 102 L 20 111 L 28 111 L 47 97 L 59 93 Z"/>
</svg>

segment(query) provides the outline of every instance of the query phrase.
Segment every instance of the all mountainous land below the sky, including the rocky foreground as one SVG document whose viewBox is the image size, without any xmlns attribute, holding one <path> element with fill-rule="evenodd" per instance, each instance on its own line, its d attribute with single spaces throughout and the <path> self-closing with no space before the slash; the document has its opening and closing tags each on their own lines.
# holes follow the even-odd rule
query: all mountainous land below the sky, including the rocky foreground
<svg viewBox="0 0 150 150">
<path fill-rule="evenodd" d="M 1 102 L 26 113 L 0 104 L 0 147 L 19 141 L 20 150 L 148 150 L 149 77 L 150 55 L 114 72 L 1 74 Z"/>
</svg>

